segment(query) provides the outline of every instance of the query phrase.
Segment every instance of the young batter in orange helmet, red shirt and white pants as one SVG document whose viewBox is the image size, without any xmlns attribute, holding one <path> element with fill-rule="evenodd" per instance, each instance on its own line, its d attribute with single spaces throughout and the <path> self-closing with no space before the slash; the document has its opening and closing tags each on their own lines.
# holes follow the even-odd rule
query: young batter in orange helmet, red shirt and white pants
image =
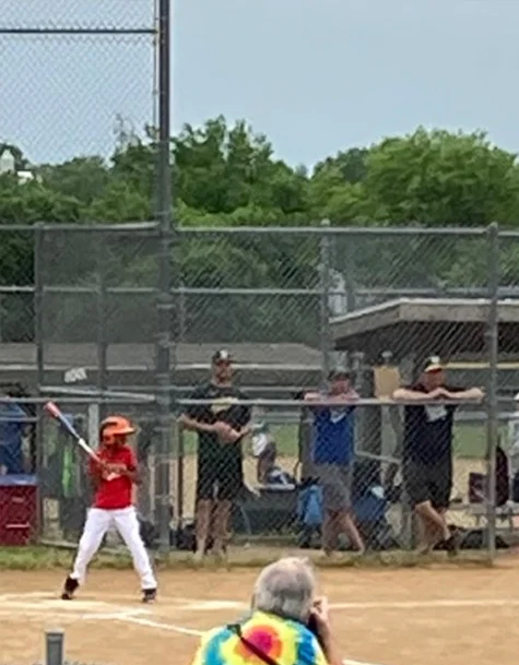
<svg viewBox="0 0 519 665">
<path fill-rule="evenodd" d="M 73 571 L 64 582 L 63 601 L 71 601 L 75 590 L 84 583 L 86 568 L 110 526 L 117 529 L 131 553 L 141 578 L 142 601 L 151 603 L 155 599 L 156 580 L 132 504 L 132 488 L 139 483 L 139 475 L 137 459 L 127 437 L 134 431 L 130 421 L 121 416 L 109 416 L 101 425 L 97 451 L 101 462 L 91 460 L 89 467 L 96 490 L 94 504 L 89 510 Z"/>
</svg>

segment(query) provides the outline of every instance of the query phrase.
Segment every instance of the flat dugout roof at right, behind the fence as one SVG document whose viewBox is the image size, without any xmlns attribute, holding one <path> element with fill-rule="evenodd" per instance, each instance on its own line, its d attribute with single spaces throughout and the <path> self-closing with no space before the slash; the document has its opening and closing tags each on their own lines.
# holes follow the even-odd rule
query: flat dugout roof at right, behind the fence
<svg viewBox="0 0 519 665">
<path fill-rule="evenodd" d="M 331 321 L 338 351 L 363 352 L 369 363 L 390 351 L 397 361 L 438 354 L 481 357 L 487 348 L 488 300 L 399 298 Z M 519 354 L 519 300 L 498 302 L 499 351 Z"/>
</svg>

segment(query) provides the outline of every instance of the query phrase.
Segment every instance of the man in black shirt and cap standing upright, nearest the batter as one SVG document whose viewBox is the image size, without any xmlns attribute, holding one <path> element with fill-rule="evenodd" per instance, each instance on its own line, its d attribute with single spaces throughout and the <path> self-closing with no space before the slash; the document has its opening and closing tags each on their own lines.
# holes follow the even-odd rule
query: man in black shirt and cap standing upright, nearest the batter
<svg viewBox="0 0 519 665">
<path fill-rule="evenodd" d="M 249 434 L 250 407 L 237 404 L 247 397 L 233 385 L 228 352 L 213 355 L 211 381 L 197 388 L 190 399 L 208 401 L 189 406 L 180 418 L 187 429 L 198 432 L 199 439 L 196 558 L 200 560 L 211 535 L 213 506 L 213 553 L 222 556 L 231 508 L 243 487 L 241 440 Z"/>
</svg>

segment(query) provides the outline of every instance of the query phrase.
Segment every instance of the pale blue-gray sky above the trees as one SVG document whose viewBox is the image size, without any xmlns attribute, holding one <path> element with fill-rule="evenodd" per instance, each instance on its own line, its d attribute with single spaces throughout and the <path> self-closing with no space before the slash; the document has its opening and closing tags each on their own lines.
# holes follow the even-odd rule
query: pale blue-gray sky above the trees
<svg viewBox="0 0 519 665">
<path fill-rule="evenodd" d="M 223 114 L 279 157 L 417 126 L 483 129 L 519 152 L 518 0 L 172 0 L 173 114 Z M 149 27 L 153 0 L 1 0 L 0 25 Z M 154 120 L 150 36 L 0 35 L 0 141 L 34 163 L 109 155 L 117 115 Z"/>
</svg>

